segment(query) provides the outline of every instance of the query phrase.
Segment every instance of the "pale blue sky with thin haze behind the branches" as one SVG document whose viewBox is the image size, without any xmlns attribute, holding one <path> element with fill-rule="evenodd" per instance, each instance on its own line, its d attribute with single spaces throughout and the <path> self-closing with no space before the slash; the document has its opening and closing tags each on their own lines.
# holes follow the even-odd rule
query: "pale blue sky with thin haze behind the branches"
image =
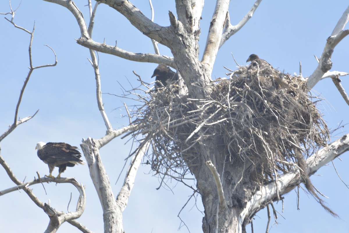
<svg viewBox="0 0 349 233">
<path fill-rule="evenodd" d="M 205 48 L 209 22 L 213 13 L 213 1 L 206 1 L 203 9 L 200 36 L 200 54 Z M 231 1 L 230 18 L 233 24 L 242 19 L 254 1 Z M 12 0 L 13 8 L 18 0 Z M 144 15 L 150 17 L 147 0 L 132 1 Z M 88 17 L 87 1 L 76 1 L 77 6 Z M 168 26 L 168 10 L 175 12 L 174 1 L 153 1 L 155 22 Z M 273 67 L 291 74 L 299 72 L 299 61 L 302 62 L 303 76 L 309 76 L 317 66 L 314 54 L 320 56 L 326 38 L 336 25 L 338 19 L 348 7 L 345 0 L 328 1 L 277 1 L 263 0 L 248 23 L 227 41 L 216 59 L 213 78 L 225 77 L 223 66 L 235 69 L 235 59 L 240 65 L 246 65 L 251 53 L 258 54 Z M 0 2 L 0 12 L 9 12 L 8 2 Z M 3 16 L 3 15 L 1 15 Z M 7 15 L 6 17 L 10 17 Z M 38 141 L 64 141 L 72 145 L 80 145 L 82 138 L 100 138 L 105 134 L 105 126 L 99 114 L 95 97 L 94 71 L 87 60 L 89 51 L 78 45 L 74 39 L 80 37 L 80 30 L 74 17 L 64 7 L 41 0 L 24 0 L 17 10 L 15 23 L 31 30 L 35 21 L 35 35 L 32 46 L 33 63 L 35 66 L 54 62 L 54 56 L 44 44 L 50 45 L 57 54 L 58 64 L 55 67 L 42 68 L 33 72 L 25 89 L 20 118 L 27 117 L 40 109 L 29 122 L 18 126 L 1 142 L 1 155 L 20 180 L 32 180 L 38 171 L 41 175 L 48 173 L 47 165 L 36 155 L 35 146 Z M 349 27 L 347 26 L 346 29 Z M 15 106 L 28 73 L 29 34 L 16 29 L 5 19 L 0 19 L 0 132 L 4 132 L 13 123 Z M 125 50 L 139 53 L 153 53 L 150 39 L 132 27 L 125 18 L 114 9 L 100 5 L 97 10 L 93 38 L 97 42 L 117 45 Z M 332 70 L 349 72 L 348 48 L 349 38 L 344 38 L 337 45 L 333 56 Z M 160 46 L 160 53 L 171 56 L 170 50 Z M 109 54 L 99 53 L 102 92 L 122 95 L 122 88 L 132 89 L 138 86 L 135 75 L 142 80 L 150 79 L 157 64 L 127 61 Z M 342 77 L 342 85 L 349 90 L 349 77 Z M 321 94 L 325 100 L 319 105 L 324 118 L 331 129 L 349 123 L 349 107 L 330 79 L 320 81 L 313 89 L 316 95 Z M 123 103 L 135 104 L 128 99 L 120 99 L 112 95 L 103 95 L 104 108 L 113 128 L 117 129 L 128 124 Z M 348 133 L 345 126 L 334 133 L 332 140 Z M 130 151 L 130 143 L 119 138 L 114 139 L 101 149 L 102 160 L 117 195 L 125 171 L 120 181 L 114 185 L 124 159 Z M 334 164 L 342 179 L 349 183 L 348 152 L 335 159 Z M 150 174 L 149 174 L 150 173 Z M 58 174 L 58 169 L 54 170 Z M 124 229 L 126 232 L 178 232 L 180 219 L 178 212 L 192 194 L 184 185 L 169 180 L 171 188 L 161 188 L 157 177 L 151 176 L 150 167 L 141 166 L 135 181 L 135 187 L 124 211 Z M 103 231 L 102 208 L 90 181 L 88 167 L 76 166 L 68 168 L 64 177 L 75 177 L 86 185 L 87 206 L 79 221 L 95 232 Z M 300 192 L 300 210 L 297 210 L 295 191 L 285 195 L 284 212 L 280 204 L 276 205 L 279 214 L 277 226 L 270 232 L 349 232 L 349 190 L 340 181 L 332 163 L 321 168 L 311 177 L 315 187 L 326 198 L 340 219 L 333 218 L 305 192 Z M 13 187 L 5 171 L 0 168 L 0 190 Z M 43 202 L 51 202 L 56 210 L 66 211 L 72 192 L 73 202 L 69 209 L 76 205 L 78 192 L 71 185 L 54 183 L 31 187 Z M 74 199 L 75 198 L 75 199 Z M 180 217 L 190 232 L 202 232 L 201 220 L 203 211 L 200 197 L 187 204 Z M 281 215 L 283 217 L 281 217 Z M 265 232 L 266 210 L 261 210 L 254 220 L 254 232 Z M 13 192 L 0 197 L 0 229 L 1 232 L 43 232 L 48 224 L 48 217 L 31 202 L 22 192 Z M 20 223 L 20 224 L 19 224 Z M 247 231 L 251 232 L 250 227 Z M 79 232 L 65 223 L 58 232 Z M 180 232 L 188 232 L 181 227 Z"/>
</svg>

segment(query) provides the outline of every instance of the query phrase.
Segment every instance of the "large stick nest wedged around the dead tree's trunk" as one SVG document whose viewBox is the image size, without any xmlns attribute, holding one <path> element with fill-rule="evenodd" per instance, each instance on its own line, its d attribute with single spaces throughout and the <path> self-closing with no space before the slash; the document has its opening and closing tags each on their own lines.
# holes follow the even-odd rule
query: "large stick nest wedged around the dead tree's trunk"
<svg viewBox="0 0 349 233">
<path fill-rule="evenodd" d="M 148 159 L 157 173 L 183 179 L 197 165 L 200 143 L 212 139 L 221 144 L 222 158 L 262 168 L 254 179 L 264 183 L 298 166 L 299 154 L 310 156 L 326 144 L 327 125 L 304 79 L 272 67 L 240 67 L 212 84 L 207 100 L 179 97 L 176 85 L 143 99 L 133 134 L 151 141 Z"/>
</svg>

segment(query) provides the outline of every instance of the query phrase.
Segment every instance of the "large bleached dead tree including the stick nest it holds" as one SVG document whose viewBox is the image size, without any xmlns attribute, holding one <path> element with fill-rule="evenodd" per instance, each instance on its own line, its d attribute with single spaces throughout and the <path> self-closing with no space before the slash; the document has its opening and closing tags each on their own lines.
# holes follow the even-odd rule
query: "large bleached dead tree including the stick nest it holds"
<svg viewBox="0 0 349 233">
<path fill-rule="evenodd" d="M 349 135 L 327 145 L 327 125 L 316 108 L 315 97 L 309 97 L 308 92 L 321 79 L 331 77 L 348 100 L 338 82 L 339 76 L 346 73 L 329 70 L 335 46 L 349 34 L 349 30 L 343 30 L 349 7 L 328 37 L 319 66 L 310 77 L 289 75 L 254 63 L 252 68 L 241 66 L 232 71 L 229 79 L 213 81 L 211 73 L 218 49 L 245 25 L 261 0 L 235 26 L 230 23 L 230 1 L 217 0 L 201 60 L 198 41 L 202 0 L 176 0 L 176 14 L 169 12 L 170 26 L 153 23 L 129 1 L 98 0 L 94 7 L 89 1 L 89 23 L 73 1 L 46 1 L 72 13 L 81 32 L 77 43 L 90 50 L 98 109 L 107 132 L 100 139 L 83 139 L 81 147 L 103 208 L 104 232 L 124 232 L 122 211 L 144 154 L 161 176 L 178 180 L 187 174 L 195 176 L 205 207 L 205 233 L 245 232 L 255 213 L 282 199 L 302 182 L 335 215 L 322 202 L 309 176 L 349 150 Z M 100 3 L 124 15 L 154 45 L 158 42 L 168 47 L 173 57 L 132 53 L 94 41 L 94 16 Z M 136 120 L 115 130 L 104 111 L 95 51 L 170 66 L 177 70 L 185 88 L 175 83 L 154 91 L 143 85 L 148 96 L 140 97 L 143 107 L 131 113 Z M 99 149 L 121 135 L 137 137 L 139 146 L 130 155 L 133 159 L 124 186 L 116 196 Z"/>
</svg>

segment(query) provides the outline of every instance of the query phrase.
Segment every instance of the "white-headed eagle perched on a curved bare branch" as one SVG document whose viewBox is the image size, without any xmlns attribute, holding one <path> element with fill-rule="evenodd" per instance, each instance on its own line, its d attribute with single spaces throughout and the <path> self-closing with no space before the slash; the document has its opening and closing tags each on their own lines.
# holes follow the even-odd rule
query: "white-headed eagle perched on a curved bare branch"
<svg viewBox="0 0 349 233">
<path fill-rule="evenodd" d="M 58 167 L 58 176 L 66 170 L 67 167 L 74 167 L 75 164 L 84 165 L 84 161 L 80 159 L 81 154 L 77 151 L 76 146 L 67 143 L 44 143 L 42 141 L 36 144 L 35 149 L 38 150 L 38 157 L 49 166 L 49 175 L 47 177 L 54 178 L 52 171 L 54 167 Z"/>
</svg>

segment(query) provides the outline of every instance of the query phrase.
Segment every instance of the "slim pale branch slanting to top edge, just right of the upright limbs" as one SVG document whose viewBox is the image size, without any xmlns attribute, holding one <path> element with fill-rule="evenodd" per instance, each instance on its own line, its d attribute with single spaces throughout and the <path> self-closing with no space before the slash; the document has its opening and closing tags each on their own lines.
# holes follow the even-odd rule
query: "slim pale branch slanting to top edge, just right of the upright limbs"
<svg viewBox="0 0 349 233">
<path fill-rule="evenodd" d="M 223 31 L 223 35 L 219 44 L 219 48 L 222 47 L 222 45 L 232 36 L 234 35 L 236 32 L 238 32 L 246 23 L 248 20 L 251 19 L 251 17 L 253 16 L 253 13 L 255 12 L 255 10 L 257 9 L 257 7 L 259 6 L 259 4 L 261 3 L 262 0 L 257 0 L 255 1 L 255 3 L 253 4 L 252 8 L 247 12 L 247 14 L 243 17 L 243 19 L 236 24 L 235 26 L 232 26 L 229 20 L 229 12 L 227 13 L 227 19 L 228 21 L 226 22 L 226 25 L 224 27 L 224 31 Z"/>
</svg>

